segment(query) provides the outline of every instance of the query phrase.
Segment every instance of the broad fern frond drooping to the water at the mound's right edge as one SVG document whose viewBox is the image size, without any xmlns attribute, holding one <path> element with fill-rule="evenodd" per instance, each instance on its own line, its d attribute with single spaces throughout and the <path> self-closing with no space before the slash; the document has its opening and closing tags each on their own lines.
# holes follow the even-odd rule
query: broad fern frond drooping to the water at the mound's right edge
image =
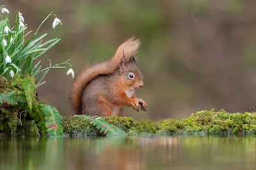
<svg viewBox="0 0 256 170">
<path fill-rule="evenodd" d="M 62 117 L 56 108 L 42 104 L 42 111 L 45 115 L 45 127 L 50 136 L 62 136 Z"/>
</svg>

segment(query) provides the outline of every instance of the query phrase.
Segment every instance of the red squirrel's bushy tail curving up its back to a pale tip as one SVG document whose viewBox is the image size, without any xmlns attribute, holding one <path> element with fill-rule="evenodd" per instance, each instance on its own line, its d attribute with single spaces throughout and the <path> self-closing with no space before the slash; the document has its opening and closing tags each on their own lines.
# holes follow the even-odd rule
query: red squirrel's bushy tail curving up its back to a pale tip
<svg viewBox="0 0 256 170">
<path fill-rule="evenodd" d="M 70 89 L 70 103 L 75 114 L 82 114 L 82 96 L 86 85 L 99 75 L 113 73 L 118 68 L 122 57 L 125 55 L 125 59 L 129 60 L 132 55 L 136 54 L 139 46 L 139 39 L 135 39 L 134 37 L 127 39 L 118 47 L 115 55 L 111 59 L 89 65 L 76 74 Z"/>
</svg>

